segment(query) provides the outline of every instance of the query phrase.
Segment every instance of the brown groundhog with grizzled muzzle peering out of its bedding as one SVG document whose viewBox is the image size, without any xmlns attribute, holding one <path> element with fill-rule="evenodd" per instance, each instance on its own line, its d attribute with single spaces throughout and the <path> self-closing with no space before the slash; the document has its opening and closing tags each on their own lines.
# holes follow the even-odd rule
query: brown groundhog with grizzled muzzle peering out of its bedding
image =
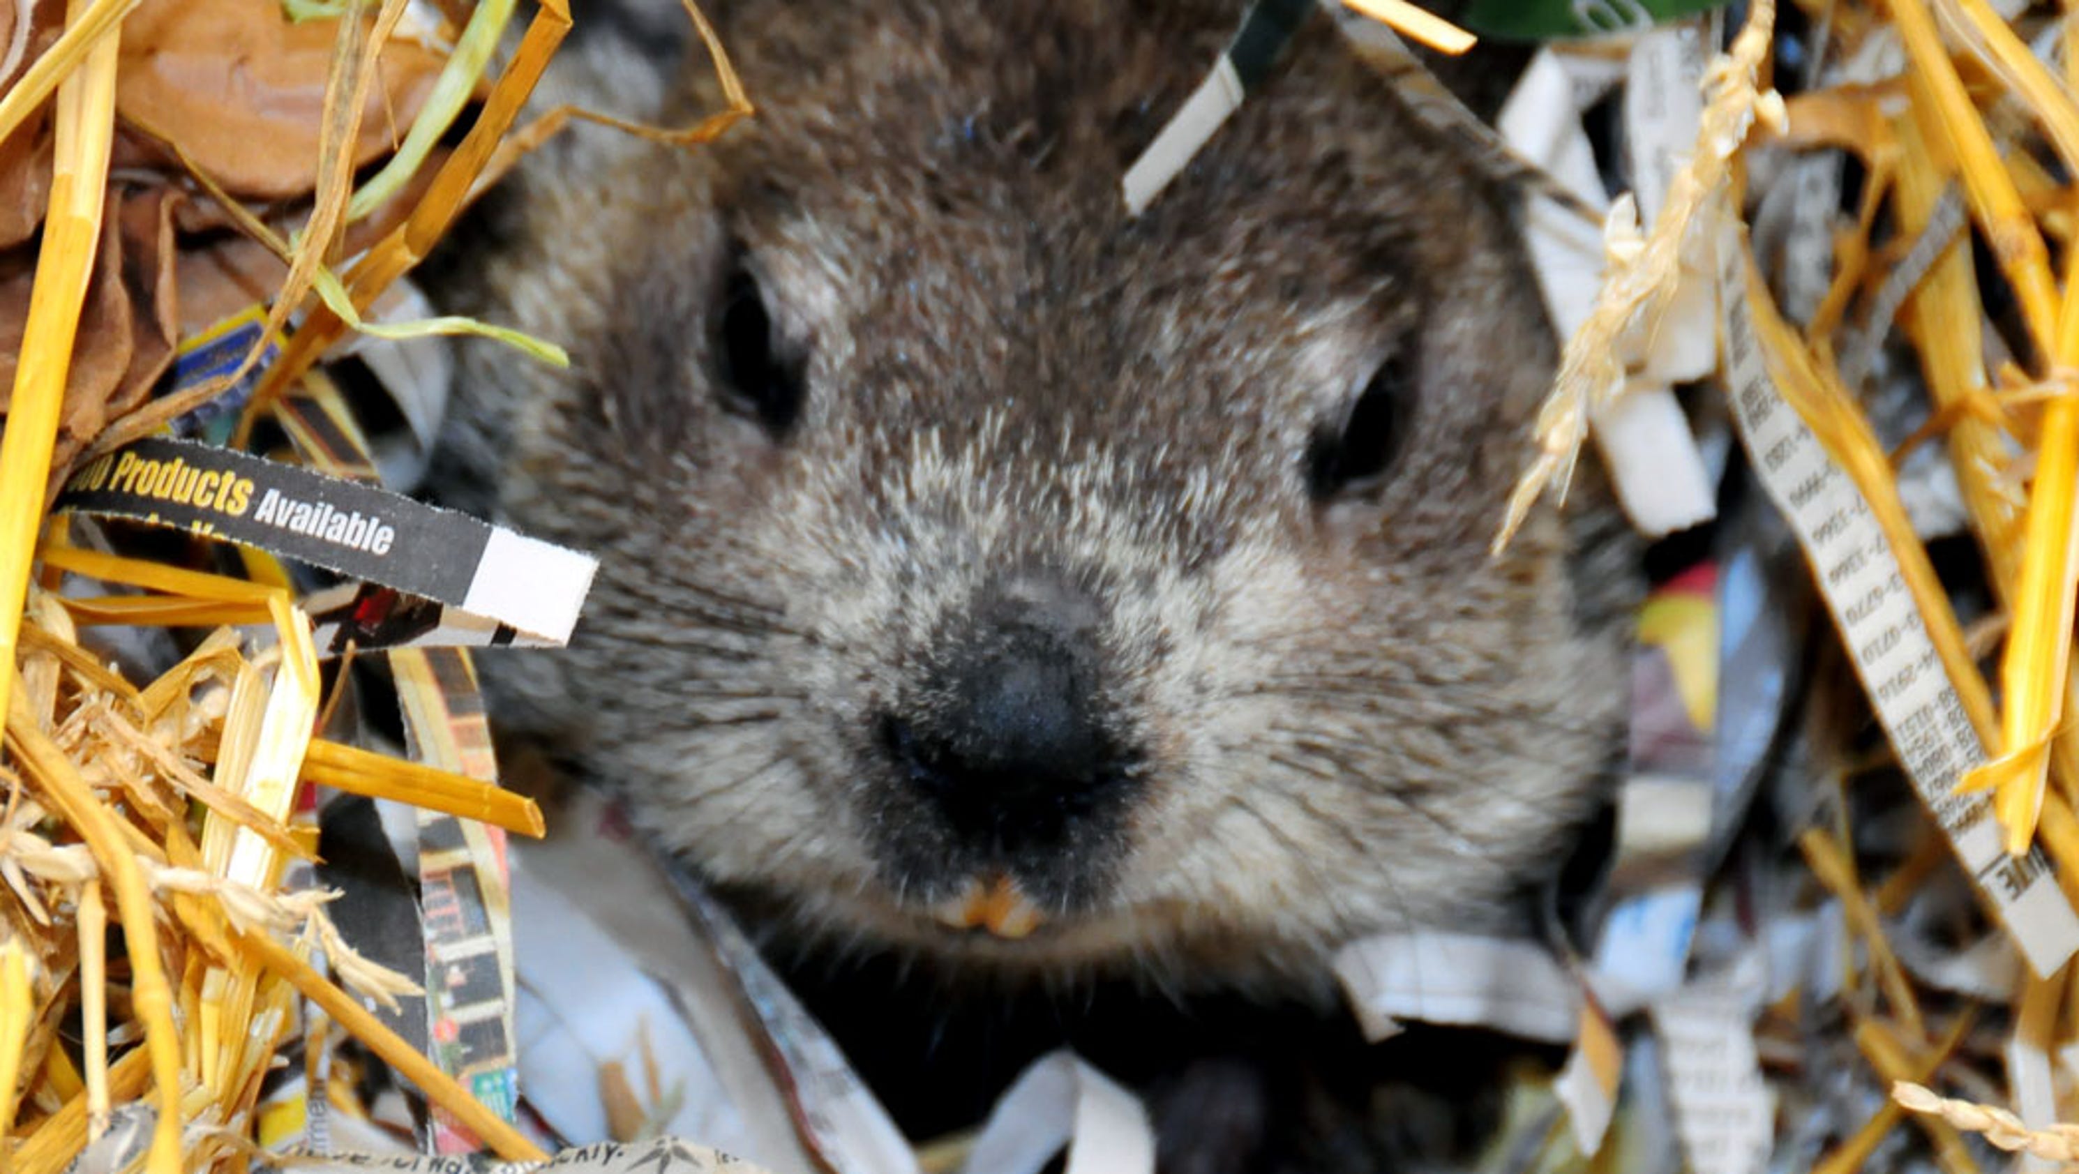
<svg viewBox="0 0 2079 1174">
<path fill-rule="evenodd" d="M 757 114 L 565 137 L 435 283 L 572 353 L 466 349 L 437 492 L 601 557 L 565 652 L 484 657 L 495 717 L 728 893 L 913 1130 L 1160 1018 L 1177 1060 L 1119 1068 L 1191 1118 L 1166 1168 L 1372 1168 L 1279 1126 L 1376 1116 L 1328 958 L 1518 923 L 1620 746 L 1609 509 L 1489 555 L 1555 359 L 1516 195 L 1326 12 L 1135 216 L 1243 4 L 705 8 Z M 713 110 L 680 21 L 580 4 L 551 98 Z"/>
</svg>

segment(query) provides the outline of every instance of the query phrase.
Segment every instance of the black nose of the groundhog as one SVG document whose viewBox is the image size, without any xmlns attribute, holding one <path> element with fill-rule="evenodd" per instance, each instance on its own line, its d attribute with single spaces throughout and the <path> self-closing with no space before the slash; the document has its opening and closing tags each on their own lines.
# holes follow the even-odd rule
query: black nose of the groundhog
<svg viewBox="0 0 2079 1174">
<path fill-rule="evenodd" d="M 1044 837 L 1116 777 L 1085 630 L 1023 611 L 956 650 L 884 729 L 911 785 L 965 833 Z"/>
</svg>

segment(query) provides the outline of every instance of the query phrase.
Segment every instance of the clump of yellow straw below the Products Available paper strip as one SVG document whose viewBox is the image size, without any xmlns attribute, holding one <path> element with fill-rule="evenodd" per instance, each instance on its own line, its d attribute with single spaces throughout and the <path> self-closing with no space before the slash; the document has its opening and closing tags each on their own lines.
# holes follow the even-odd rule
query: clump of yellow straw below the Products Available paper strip
<svg viewBox="0 0 2079 1174">
<path fill-rule="evenodd" d="M 287 592 L 81 551 L 48 549 L 44 565 L 152 592 L 121 603 L 177 601 L 175 623 L 181 625 L 208 617 L 262 619 L 274 625 L 277 640 L 262 652 L 231 630 L 218 630 L 173 671 L 133 688 L 81 650 L 67 596 L 42 590 L 31 596 L 6 725 L 10 804 L 0 875 L 15 898 L 6 904 L 6 929 L 17 962 L 8 964 L 23 964 L 23 989 L 33 987 L 29 1012 L 8 1020 L 27 1024 L 12 1064 L 17 1072 L 42 1072 L 44 1080 L 31 1080 L 12 1103 L 17 1128 L 29 1126 L 17 1162 L 31 1170 L 62 1168 L 77 1153 L 64 1151 L 64 1143 L 81 1141 L 69 1105 L 85 1105 L 85 1139 L 91 1141 L 108 1122 L 110 1097 L 135 1097 L 146 1080 L 158 1114 L 152 1170 L 210 1168 L 218 1151 L 239 1153 L 237 1141 L 249 1139 L 260 1080 L 297 1026 L 289 1014 L 297 993 L 468 1120 L 501 1153 L 536 1155 L 532 1143 L 484 1112 L 308 960 L 312 950 L 322 950 L 341 981 L 383 1002 L 416 989 L 345 948 L 326 920 L 324 893 L 281 891 L 289 860 L 312 848 L 289 819 L 289 806 L 318 713 L 310 621 Z M 108 603 L 100 603 L 83 611 L 89 623 L 125 613 L 135 623 L 146 607 L 110 613 Z M 202 775 L 204 763 L 214 763 L 214 777 Z M 362 763 L 362 769 L 374 767 Z M 412 800 L 426 790 L 426 775 L 443 794 L 437 806 L 470 792 L 474 802 L 491 802 L 486 783 L 424 767 L 399 771 L 387 785 Z M 202 812 L 200 837 L 195 810 Z M 102 956 L 104 904 L 114 904 L 125 931 L 121 966 Z M 293 935 L 299 948 L 274 935 Z M 114 1024 L 106 1022 L 104 1006 L 91 1006 L 110 989 L 127 1004 Z M 79 999 L 83 1039 L 100 1043 L 83 1047 L 79 1058 L 60 1037 L 73 999 Z M 175 1031 L 173 1008 L 187 1024 L 185 1037 Z M 112 1068 L 110 1035 L 141 1037 L 143 1045 Z M 0 1043 L 15 1043 L 15 1037 Z M 137 1066 L 137 1056 L 150 1066 Z M 127 1091 L 116 1091 L 112 1070 L 125 1062 L 133 1072 L 123 1083 Z M 62 1074 L 79 1068 L 85 1087 L 62 1095 Z M 23 1114 L 25 1108 L 31 1112 Z M 183 1159 L 183 1126 L 195 1132 L 198 1124 L 206 1126 L 202 1141 L 189 1145 Z M 31 1166 L 23 1151 L 48 1153 L 56 1166 Z"/>
</svg>

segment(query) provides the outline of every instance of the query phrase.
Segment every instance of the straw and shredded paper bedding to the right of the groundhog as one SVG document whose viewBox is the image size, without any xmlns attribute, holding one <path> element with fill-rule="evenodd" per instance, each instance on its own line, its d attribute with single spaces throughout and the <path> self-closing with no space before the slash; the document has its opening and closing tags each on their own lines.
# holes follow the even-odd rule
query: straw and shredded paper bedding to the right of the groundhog
<svg viewBox="0 0 2079 1174">
<path fill-rule="evenodd" d="M 1699 79 L 1659 214 L 1611 206 L 1601 297 L 1565 343 L 1501 540 L 1563 490 L 1590 418 L 1638 384 L 1638 341 L 1715 297 L 1717 378 L 1690 416 L 1707 451 L 1730 438 L 1746 457 L 1744 505 L 1711 555 L 1721 615 L 1746 630 L 1713 640 L 1717 783 L 1692 904 L 1657 904 L 1669 883 L 1626 873 L 1620 827 L 1613 914 L 1593 931 L 1678 960 L 1676 987 L 1620 983 L 1651 968 L 1613 968 L 1611 950 L 1586 977 L 1620 1018 L 1644 1004 L 1657 1053 L 1628 1031 L 1609 1137 L 1547 1143 L 1534 1168 L 2073 1159 L 2058 1122 L 2079 1120 L 2079 23 L 2050 4 L 2002 10 L 1748 4 Z M 1636 54 L 1651 35 L 1547 56 Z M 1663 166 L 1651 141 L 1622 150 L 1636 183 Z M 1802 573 L 1726 576 L 1771 559 Z M 1825 671 L 1805 709 L 1782 711 L 1811 669 L 1746 652 L 1800 623 L 1805 596 L 1838 652 L 1811 663 Z M 1861 704 L 1844 709 L 1842 686 Z M 1728 706 L 1778 717 L 1728 721 Z M 1778 721 L 1765 765 L 1755 738 Z M 1634 746 L 1638 729 L 1634 713 Z M 1634 775 L 1626 796 L 1653 788 L 1667 781 Z M 1665 908 L 1694 918 L 1655 931 Z M 1715 1039 L 1665 1014 L 1694 991 L 1736 995 Z M 1686 1049 L 1751 1060 L 1694 1068 Z M 1657 1074 L 1665 1091 L 1644 1085 Z M 1578 1122 L 1578 1087 L 1561 1083 L 1549 1112 Z M 1767 1128 L 1728 1128 L 1736 1116 Z"/>
</svg>

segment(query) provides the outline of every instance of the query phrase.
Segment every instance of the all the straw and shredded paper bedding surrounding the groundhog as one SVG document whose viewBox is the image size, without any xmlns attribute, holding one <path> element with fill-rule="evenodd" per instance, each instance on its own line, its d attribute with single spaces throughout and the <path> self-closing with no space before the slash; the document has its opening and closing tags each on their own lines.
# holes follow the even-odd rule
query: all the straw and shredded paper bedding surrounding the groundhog
<svg viewBox="0 0 2079 1174">
<path fill-rule="evenodd" d="M 1628 461 L 1680 447 L 1682 507 L 1640 511 L 1651 528 L 1705 517 L 1732 447 L 1751 470 L 1711 555 L 1640 615 L 1615 862 L 1578 950 L 1412 935 L 1341 958 L 1374 1035 L 1472 1022 L 1570 1047 L 1511 1085 L 1482 1170 L 2073 1159 L 2058 1122 L 2079 1120 L 2079 25 L 2048 4 L 1746 4 L 1736 29 L 1682 25 L 1713 50 L 1674 83 L 1701 94 L 1692 114 L 1620 102 L 1628 158 L 1553 177 L 1538 166 L 1561 170 L 1557 154 L 1478 129 L 1403 46 L 1353 37 L 1541 212 L 1599 224 L 1572 249 L 1597 297 L 1555 314 L 1578 328 L 1509 528 L 1628 403 L 1649 403 L 1649 441 L 1603 451 L 1634 507 L 1667 503 L 1640 499 L 1663 474 Z M 518 125 L 563 4 L 518 35 L 505 0 L 293 6 L 301 23 L 274 0 L 0 4 L 0 343 L 19 341 L 0 438 L 0 1147 L 31 1174 L 231 1170 L 285 1147 L 547 1159 L 514 1093 L 503 846 L 543 817 L 497 785 L 466 650 L 511 628 L 472 617 L 468 592 L 314 586 L 266 551 L 48 507 L 69 470 L 168 428 L 241 447 L 279 432 L 270 457 L 372 480 L 378 447 L 326 372 L 356 339 L 476 332 L 559 359 L 497 324 L 399 312 L 399 278 L 472 197 L 572 118 L 699 145 L 751 106 L 692 8 L 726 108 L 659 131 L 582 110 Z M 1397 0 L 1349 8 L 1464 46 Z M 1690 69 L 1669 35 L 1545 54 L 1574 83 L 1640 85 Z M 299 64 L 239 110 L 154 73 L 227 46 Z M 1229 69 L 1241 81 L 1214 106 L 1245 100 L 1268 62 Z M 1131 202 L 1187 158 L 1150 162 Z M 1609 170 L 1636 197 L 1588 191 Z M 1686 418 L 1682 382 L 1699 384 Z M 1640 389 L 1653 399 L 1626 399 Z M 391 393 L 407 420 L 437 416 L 435 391 Z M 1844 655 L 1807 661 L 1805 615 Z M 345 669 L 326 684 L 326 661 L 376 650 L 410 761 L 368 742 Z M 364 956 L 328 912 L 310 866 L 320 790 L 420 808 L 428 912 L 410 966 Z M 684 1110 L 667 1112 L 669 1070 L 711 1072 L 717 1103 L 778 1105 L 740 1126 L 786 1162 L 906 1172 L 996 1153 L 994 1128 L 913 1153 L 726 914 L 699 896 L 692 910 L 707 937 L 682 954 L 717 977 L 655 1006 L 748 1006 L 753 1043 L 703 1066 L 684 1022 L 644 1035 L 640 1062 L 597 1074 L 597 1114 L 543 1114 L 599 1116 L 632 1145 L 559 1168 L 740 1170 L 653 1141 Z M 593 914 L 557 925 L 572 918 Z M 1397 964 L 1422 958 L 1451 962 Z M 565 1026 L 557 1045 L 584 1053 Z M 395 1101 L 360 1099 L 374 1066 L 430 1105 L 416 1132 Z M 1110 1145 L 1146 1162 L 1127 1093 L 1071 1058 L 1046 1066 L 1012 1118 L 1031 1089 L 1052 1089 L 1048 1120 L 1108 1103 L 1091 1120 L 1116 1128 L 1062 1132 L 1077 1159 Z"/>
</svg>

